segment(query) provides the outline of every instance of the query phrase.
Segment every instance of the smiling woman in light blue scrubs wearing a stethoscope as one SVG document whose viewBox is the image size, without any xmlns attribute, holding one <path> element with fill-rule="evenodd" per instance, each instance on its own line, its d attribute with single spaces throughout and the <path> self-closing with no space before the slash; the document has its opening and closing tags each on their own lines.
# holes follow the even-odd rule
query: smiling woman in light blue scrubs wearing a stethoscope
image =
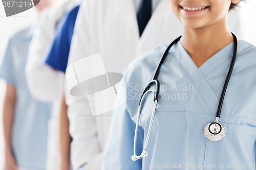
<svg viewBox="0 0 256 170">
<path fill-rule="evenodd" d="M 148 87 L 139 93 L 154 92 L 154 100 L 127 100 L 114 110 L 102 169 L 165 168 L 166 162 L 192 169 L 239 162 L 238 169 L 246 164 L 253 169 L 256 47 L 238 40 L 227 23 L 231 3 L 239 0 L 169 2 L 183 24 L 182 36 L 132 62 L 124 82 L 155 87 L 182 82 L 195 90 L 184 91 L 186 100 L 168 100 L 159 95 L 172 91 Z"/>
</svg>

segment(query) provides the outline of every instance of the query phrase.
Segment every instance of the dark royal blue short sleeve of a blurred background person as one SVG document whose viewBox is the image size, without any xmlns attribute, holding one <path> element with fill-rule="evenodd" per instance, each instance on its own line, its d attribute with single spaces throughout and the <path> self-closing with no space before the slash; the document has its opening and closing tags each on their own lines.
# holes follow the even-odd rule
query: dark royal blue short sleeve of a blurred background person
<svg viewBox="0 0 256 170">
<path fill-rule="evenodd" d="M 61 18 L 56 29 L 55 40 L 46 59 L 48 65 L 63 72 L 66 72 L 68 65 L 70 45 L 78 10 L 79 6 Z"/>
</svg>

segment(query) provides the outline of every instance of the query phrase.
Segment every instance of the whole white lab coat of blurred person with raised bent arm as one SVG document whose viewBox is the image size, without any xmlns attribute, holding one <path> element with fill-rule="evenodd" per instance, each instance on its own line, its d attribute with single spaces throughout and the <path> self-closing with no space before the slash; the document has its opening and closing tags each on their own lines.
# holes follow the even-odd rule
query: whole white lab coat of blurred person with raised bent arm
<svg viewBox="0 0 256 170">
<path fill-rule="evenodd" d="M 53 102 L 52 115 L 48 124 L 47 170 L 60 169 L 59 111 L 64 75 L 46 65 L 45 57 L 47 57 L 61 16 L 77 5 L 78 1 L 69 1 L 60 7 L 52 7 L 43 11 L 29 47 L 26 65 L 29 90 L 34 98 L 44 102 Z"/>
</svg>

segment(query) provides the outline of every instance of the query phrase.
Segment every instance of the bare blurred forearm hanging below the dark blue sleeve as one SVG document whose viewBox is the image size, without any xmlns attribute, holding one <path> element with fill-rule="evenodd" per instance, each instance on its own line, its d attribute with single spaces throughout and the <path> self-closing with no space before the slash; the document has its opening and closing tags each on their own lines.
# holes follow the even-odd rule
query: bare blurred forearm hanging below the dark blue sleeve
<svg viewBox="0 0 256 170">
<path fill-rule="evenodd" d="M 70 143 L 71 136 L 69 134 L 69 118 L 67 115 L 68 106 L 63 96 L 60 108 L 60 156 L 61 170 L 70 169 Z"/>
</svg>

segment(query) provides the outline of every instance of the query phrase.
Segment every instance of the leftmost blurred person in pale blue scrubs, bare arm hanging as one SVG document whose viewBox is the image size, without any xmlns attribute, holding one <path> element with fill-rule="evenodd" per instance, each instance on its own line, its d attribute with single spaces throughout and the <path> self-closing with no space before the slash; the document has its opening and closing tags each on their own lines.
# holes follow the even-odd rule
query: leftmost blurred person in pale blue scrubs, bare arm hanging
<svg viewBox="0 0 256 170">
<path fill-rule="evenodd" d="M 41 12 L 52 1 L 41 0 Z M 52 104 L 34 99 L 25 79 L 28 48 L 37 22 L 15 33 L 8 42 L 0 63 L 0 77 L 7 81 L 3 125 L 5 170 L 46 169 L 48 120 Z"/>
</svg>

